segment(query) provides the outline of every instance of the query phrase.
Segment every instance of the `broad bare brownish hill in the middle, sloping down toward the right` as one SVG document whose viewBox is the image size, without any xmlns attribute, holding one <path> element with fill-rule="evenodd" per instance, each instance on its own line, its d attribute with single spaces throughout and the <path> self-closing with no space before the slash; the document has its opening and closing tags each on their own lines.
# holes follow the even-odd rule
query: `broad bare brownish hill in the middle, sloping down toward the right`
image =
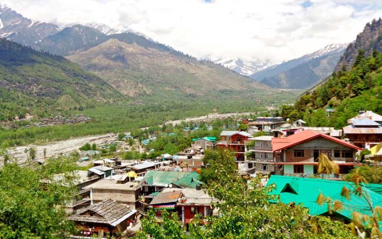
<svg viewBox="0 0 382 239">
<path fill-rule="evenodd" d="M 110 39 L 68 58 L 129 96 L 203 95 L 220 90 L 267 88 L 221 66 L 120 39 Z"/>
</svg>

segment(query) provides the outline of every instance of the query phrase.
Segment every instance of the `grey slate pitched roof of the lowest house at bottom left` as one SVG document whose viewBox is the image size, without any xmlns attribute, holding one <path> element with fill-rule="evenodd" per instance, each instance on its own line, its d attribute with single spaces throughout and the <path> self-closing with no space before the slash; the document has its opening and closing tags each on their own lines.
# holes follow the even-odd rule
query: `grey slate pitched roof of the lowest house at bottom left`
<svg viewBox="0 0 382 239">
<path fill-rule="evenodd" d="M 87 212 L 93 212 L 95 215 L 86 215 Z M 95 222 L 117 226 L 125 219 L 133 216 L 136 212 L 136 210 L 130 210 L 124 204 L 108 199 L 85 209 L 78 210 L 76 214 L 69 216 L 68 219 L 71 221 Z"/>
</svg>

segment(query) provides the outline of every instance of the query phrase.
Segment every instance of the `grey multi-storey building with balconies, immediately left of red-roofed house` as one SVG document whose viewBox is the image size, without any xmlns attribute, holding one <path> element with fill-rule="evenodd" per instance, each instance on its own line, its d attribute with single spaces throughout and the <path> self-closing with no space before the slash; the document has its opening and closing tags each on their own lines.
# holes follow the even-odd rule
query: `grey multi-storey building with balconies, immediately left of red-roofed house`
<svg viewBox="0 0 382 239">
<path fill-rule="evenodd" d="M 270 173 L 275 171 L 272 138 L 272 136 L 259 136 L 250 139 L 253 143 L 247 146 L 247 153 L 251 155 L 250 161 L 254 164 L 255 172 Z"/>
</svg>

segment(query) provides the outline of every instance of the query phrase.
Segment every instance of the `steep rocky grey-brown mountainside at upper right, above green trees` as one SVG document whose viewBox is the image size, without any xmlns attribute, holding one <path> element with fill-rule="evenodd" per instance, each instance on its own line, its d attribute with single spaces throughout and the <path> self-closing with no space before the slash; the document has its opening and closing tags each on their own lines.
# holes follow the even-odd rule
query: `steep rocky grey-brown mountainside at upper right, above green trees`
<svg viewBox="0 0 382 239">
<path fill-rule="evenodd" d="M 359 49 L 365 50 L 366 56 L 371 55 L 373 49 L 382 51 L 382 20 L 380 18 L 367 23 L 363 32 L 357 35 L 355 42 L 349 44 L 336 66 L 336 71 L 341 71 L 343 66 L 349 69 L 353 65 Z"/>
</svg>

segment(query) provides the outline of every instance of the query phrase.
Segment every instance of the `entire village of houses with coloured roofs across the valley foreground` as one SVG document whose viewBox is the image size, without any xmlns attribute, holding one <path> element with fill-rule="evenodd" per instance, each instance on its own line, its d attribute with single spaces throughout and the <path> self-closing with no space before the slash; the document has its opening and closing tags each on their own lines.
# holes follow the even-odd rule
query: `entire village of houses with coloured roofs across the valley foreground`
<svg viewBox="0 0 382 239">
<path fill-rule="evenodd" d="M 98 146 L 89 143 L 76 154 L 83 170 L 75 171 L 78 193 L 66 205 L 69 220 L 77 225 L 76 236 L 103 238 L 134 235 L 149 210 L 155 211 L 158 223 L 163 210 L 175 212 L 185 230 L 196 215 L 217 216 L 219 200 L 204 190 L 200 173 L 210 166 L 204 161 L 205 152 L 220 149 L 232 153 L 244 180 L 260 175 L 259 187 L 275 184 L 270 194 L 279 195 L 282 203 L 301 203 L 310 215 L 350 222 L 353 212 L 361 209 L 332 215 L 330 208 L 315 201 L 320 193 L 345 201 L 340 192 L 347 185 L 343 180 L 347 173 L 362 165 L 382 166 L 382 116 L 360 111 L 347 123 L 343 129 L 307 127 L 302 120 L 290 122 L 276 116 L 229 118 L 222 130 L 214 130 L 216 122 L 211 121 L 183 123 L 177 128 L 186 137 L 199 131 L 211 135 L 190 138 L 189 145 L 175 153 L 164 146 L 159 155 L 153 143 L 175 137 L 176 127 L 123 133 Z M 321 171 L 319 165 L 326 159 L 338 170 Z M 382 185 L 362 188 L 374 206 L 382 206 Z"/>
</svg>

